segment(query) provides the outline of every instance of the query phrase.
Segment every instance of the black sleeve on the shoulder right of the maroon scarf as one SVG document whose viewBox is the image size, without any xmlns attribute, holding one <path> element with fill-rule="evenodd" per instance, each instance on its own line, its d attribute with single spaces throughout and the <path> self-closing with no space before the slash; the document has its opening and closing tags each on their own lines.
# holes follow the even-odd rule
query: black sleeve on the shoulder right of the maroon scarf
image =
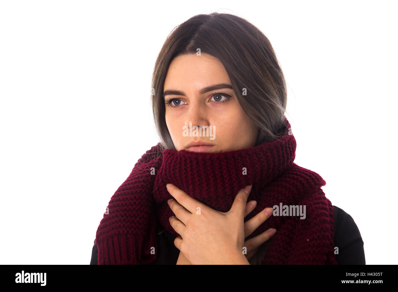
<svg viewBox="0 0 398 292">
<path fill-rule="evenodd" d="M 334 208 L 334 245 L 338 247 L 338 265 L 365 265 L 361 233 L 354 219 L 343 209 Z"/>
</svg>

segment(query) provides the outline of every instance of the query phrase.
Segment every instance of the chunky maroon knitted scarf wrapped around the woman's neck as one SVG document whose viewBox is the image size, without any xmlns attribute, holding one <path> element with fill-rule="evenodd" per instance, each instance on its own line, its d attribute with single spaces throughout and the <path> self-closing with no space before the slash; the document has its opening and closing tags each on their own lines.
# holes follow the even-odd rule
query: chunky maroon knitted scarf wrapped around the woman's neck
<svg viewBox="0 0 398 292">
<path fill-rule="evenodd" d="M 221 153 L 196 153 L 153 146 L 135 164 L 109 201 L 98 226 L 98 264 L 148 264 L 157 257 L 156 220 L 174 236 L 172 198 L 166 184 L 176 185 L 205 205 L 227 212 L 238 191 L 252 184 L 248 201 L 257 206 L 245 221 L 274 207 L 252 238 L 276 228 L 262 264 L 337 264 L 334 210 L 321 187 L 322 177 L 293 163 L 296 140 L 285 118 L 285 135 L 255 147 Z M 305 205 L 305 219 L 289 213 Z M 288 208 L 288 209 L 287 209 Z M 297 209 L 296 209 L 297 210 Z M 276 216 L 277 214 L 279 216 Z"/>
</svg>

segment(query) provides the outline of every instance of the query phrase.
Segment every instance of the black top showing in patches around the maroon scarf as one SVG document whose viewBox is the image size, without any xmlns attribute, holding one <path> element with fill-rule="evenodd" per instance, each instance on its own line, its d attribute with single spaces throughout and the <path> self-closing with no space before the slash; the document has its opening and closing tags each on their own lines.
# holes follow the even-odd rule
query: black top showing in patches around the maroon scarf
<svg viewBox="0 0 398 292">
<path fill-rule="evenodd" d="M 352 217 L 339 207 L 334 209 L 334 246 L 339 253 L 336 261 L 339 265 L 365 265 L 365 253 L 361 233 Z M 151 265 L 175 265 L 179 256 L 179 249 L 174 245 L 175 237 L 158 224 L 156 237 L 158 239 L 158 258 Z M 271 238 L 272 239 L 272 238 Z M 270 241 L 270 240 L 268 240 Z M 98 264 L 98 249 L 95 245 L 91 254 L 90 265 Z"/>
</svg>

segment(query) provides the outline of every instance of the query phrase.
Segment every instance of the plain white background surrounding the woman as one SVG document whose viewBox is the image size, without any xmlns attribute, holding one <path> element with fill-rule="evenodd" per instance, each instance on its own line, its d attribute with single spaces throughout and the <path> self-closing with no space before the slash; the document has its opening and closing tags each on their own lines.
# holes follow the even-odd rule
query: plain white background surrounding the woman
<svg viewBox="0 0 398 292">
<path fill-rule="evenodd" d="M 196 14 L 256 25 L 285 73 L 295 162 L 396 264 L 393 1 L 1 1 L 1 264 L 89 264 L 108 202 L 158 143 L 151 75 Z"/>
</svg>

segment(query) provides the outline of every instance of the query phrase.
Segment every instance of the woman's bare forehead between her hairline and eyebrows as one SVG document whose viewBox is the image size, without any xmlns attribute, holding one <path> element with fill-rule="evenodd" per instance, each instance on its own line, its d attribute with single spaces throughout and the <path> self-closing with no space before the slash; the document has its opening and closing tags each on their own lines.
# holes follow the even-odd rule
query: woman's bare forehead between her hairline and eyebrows
<svg viewBox="0 0 398 292">
<path fill-rule="evenodd" d="M 164 81 L 164 90 L 188 91 L 216 83 L 230 83 L 224 65 L 209 54 L 188 54 L 172 60 Z"/>
</svg>

